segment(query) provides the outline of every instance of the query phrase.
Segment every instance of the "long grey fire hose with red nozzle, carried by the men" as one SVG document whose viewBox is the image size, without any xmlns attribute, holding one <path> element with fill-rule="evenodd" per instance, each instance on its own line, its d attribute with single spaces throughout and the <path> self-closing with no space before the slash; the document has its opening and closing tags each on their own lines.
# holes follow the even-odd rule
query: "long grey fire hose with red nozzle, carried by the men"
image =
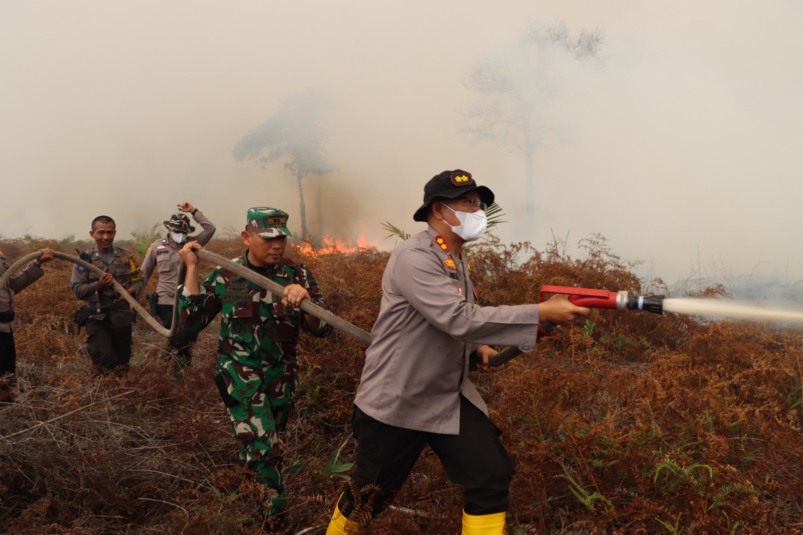
<svg viewBox="0 0 803 535">
<path fill-rule="evenodd" d="M 225 256 L 217 255 L 211 251 L 206 251 L 206 249 L 197 249 L 195 250 L 195 254 L 198 255 L 199 259 L 225 267 L 226 270 L 234 272 L 236 275 L 243 277 L 243 279 L 250 280 L 252 283 L 267 289 L 268 292 L 271 292 L 276 296 L 283 295 L 284 287 L 281 284 L 267 279 L 266 277 L 251 271 L 247 267 L 227 259 Z M 23 256 L 21 259 L 18 259 L 16 262 L 11 264 L 6 273 L 0 277 L 0 288 L 6 285 L 14 272 L 17 272 L 22 266 L 26 265 L 26 263 L 31 262 L 31 260 L 37 259 L 42 255 L 42 251 L 35 251 L 30 255 Z M 55 258 L 77 263 L 79 266 L 95 272 L 98 276 L 104 276 L 105 274 L 105 272 L 99 267 L 87 262 L 84 259 L 80 259 L 77 256 L 67 255 L 66 253 L 58 251 L 56 251 L 54 255 Z M 179 268 L 178 272 L 179 284 L 181 284 L 184 280 L 185 271 L 186 267 L 184 263 L 181 263 L 181 267 Z M 179 314 L 178 296 L 175 297 L 173 305 L 173 328 L 165 329 L 149 314 L 149 312 L 145 311 L 145 308 L 142 308 L 141 304 L 137 303 L 137 300 L 128 293 L 128 290 L 123 288 L 122 284 L 118 283 L 116 280 L 114 280 L 112 284 L 114 285 L 116 291 L 120 293 L 120 295 L 123 296 L 129 304 L 131 304 L 132 308 L 134 308 L 141 317 L 145 318 L 145 321 L 148 322 L 148 325 L 150 325 L 157 333 L 160 333 L 165 337 L 173 337 L 177 333 L 177 320 Z M 571 303 L 581 307 L 610 308 L 618 310 L 619 312 L 625 312 L 627 310 L 646 310 L 647 312 L 653 312 L 656 314 L 663 313 L 663 296 L 634 296 L 624 291 L 609 292 L 608 290 L 597 290 L 593 288 L 571 288 L 569 286 L 551 286 L 547 284 L 544 284 L 544 286 L 541 287 L 540 293 L 541 301 L 544 301 L 545 294 L 559 293 L 568 295 Z M 307 312 L 319 320 L 325 321 L 329 325 L 332 325 L 332 327 L 335 329 L 338 329 L 343 333 L 356 338 L 365 345 L 371 345 L 371 333 L 365 331 L 364 329 L 360 329 L 357 327 L 357 325 L 353 325 L 348 321 L 335 316 L 332 314 L 332 312 L 329 312 L 324 308 L 320 308 L 318 305 L 312 303 L 312 301 L 301 301 L 299 308 L 303 312 Z M 491 355 L 491 357 L 488 358 L 488 366 L 500 366 L 505 362 L 518 357 L 521 353 L 522 352 L 518 348 L 508 347 L 499 353 Z"/>
</svg>

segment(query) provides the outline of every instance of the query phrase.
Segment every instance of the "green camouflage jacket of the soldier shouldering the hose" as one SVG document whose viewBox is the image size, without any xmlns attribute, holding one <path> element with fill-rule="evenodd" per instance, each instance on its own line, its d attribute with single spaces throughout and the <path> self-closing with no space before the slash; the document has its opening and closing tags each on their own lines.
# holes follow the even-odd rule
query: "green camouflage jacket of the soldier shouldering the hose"
<svg viewBox="0 0 803 535">
<path fill-rule="evenodd" d="M 248 264 L 248 251 L 234 262 Z M 265 272 L 255 270 L 283 286 L 300 284 L 307 288 L 312 302 L 327 308 L 318 283 L 302 263 L 282 258 Z M 176 290 L 181 305 L 181 322 L 187 332 L 198 332 L 221 312 L 218 352 L 220 361 L 237 361 L 244 366 L 260 368 L 273 364 L 296 364 L 299 331 L 314 337 L 325 337 L 332 325 L 324 321 L 310 329 L 299 308 L 285 307 L 281 296 L 245 280 L 225 267 L 216 267 L 201 285 L 201 293 L 193 295 L 185 285 Z"/>
</svg>

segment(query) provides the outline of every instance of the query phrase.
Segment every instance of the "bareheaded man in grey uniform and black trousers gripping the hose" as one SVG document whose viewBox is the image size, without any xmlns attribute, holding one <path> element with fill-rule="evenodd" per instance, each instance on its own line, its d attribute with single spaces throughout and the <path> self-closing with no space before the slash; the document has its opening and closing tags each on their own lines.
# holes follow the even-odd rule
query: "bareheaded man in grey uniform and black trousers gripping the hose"
<svg viewBox="0 0 803 535">
<path fill-rule="evenodd" d="M 112 279 L 122 284 L 134 299 L 145 288 L 144 277 L 131 251 L 114 247 L 116 233 L 114 219 L 108 215 L 94 218 L 89 235 L 96 245 L 87 254 L 89 262 L 105 274 L 98 276 L 75 264 L 70 279 L 75 297 L 86 301 L 85 306 L 91 312 L 87 320 L 87 350 L 101 374 L 119 366 L 124 366 L 120 369 L 124 373 L 131 360 L 131 321 L 135 312 L 123 296 L 117 295 Z"/>
</svg>

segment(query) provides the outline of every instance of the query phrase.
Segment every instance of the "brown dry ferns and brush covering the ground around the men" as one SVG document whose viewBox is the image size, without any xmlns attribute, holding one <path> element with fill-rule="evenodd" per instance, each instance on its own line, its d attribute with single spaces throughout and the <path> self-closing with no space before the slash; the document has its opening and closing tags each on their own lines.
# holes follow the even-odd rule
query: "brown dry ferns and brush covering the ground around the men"
<svg viewBox="0 0 803 535">
<path fill-rule="evenodd" d="M 480 247 L 471 267 L 482 304 L 536 302 L 542 284 L 655 292 L 604 239 L 584 244 L 579 259 Z M 0 249 L 16 259 L 44 245 L 62 250 Z M 234 256 L 241 246 L 210 249 Z M 334 312 L 370 329 L 387 253 L 289 255 L 312 268 Z M 21 391 L 0 404 L 0 531 L 259 533 L 259 488 L 238 472 L 211 381 L 217 325 L 182 382 L 160 365 L 163 339 L 143 322 L 131 374 L 93 379 L 71 323 L 71 264 L 45 270 L 17 300 Z M 283 436 L 297 532 L 328 521 L 343 484 L 332 452 L 353 459 L 364 349 L 340 333 L 300 346 L 298 410 Z M 766 325 L 596 310 L 502 373 L 475 377 L 516 464 L 509 532 L 801 533 L 801 353 L 798 333 Z M 460 488 L 430 451 L 395 505 L 373 533 L 459 533 Z"/>
</svg>

